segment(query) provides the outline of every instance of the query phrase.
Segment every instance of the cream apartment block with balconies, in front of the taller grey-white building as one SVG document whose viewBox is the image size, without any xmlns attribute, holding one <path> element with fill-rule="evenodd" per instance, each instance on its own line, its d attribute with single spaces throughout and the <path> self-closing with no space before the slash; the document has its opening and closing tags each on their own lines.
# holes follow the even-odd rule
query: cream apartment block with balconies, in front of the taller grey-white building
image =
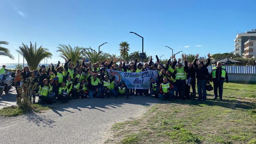
<svg viewBox="0 0 256 144">
<path fill-rule="evenodd" d="M 244 43 L 244 53 L 246 58 L 252 58 L 252 56 L 256 56 L 256 39 L 248 39 Z"/>
</svg>

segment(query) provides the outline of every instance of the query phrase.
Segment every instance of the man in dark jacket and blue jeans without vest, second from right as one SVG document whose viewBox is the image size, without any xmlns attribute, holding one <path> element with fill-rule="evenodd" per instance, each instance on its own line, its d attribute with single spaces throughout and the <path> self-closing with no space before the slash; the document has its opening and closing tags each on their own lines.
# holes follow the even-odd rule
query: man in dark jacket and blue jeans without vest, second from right
<svg viewBox="0 0 256 144">
<path fill-rule="evenodd" d="M 196 71 L 196 79 L 197 79 L 197 92 L 198 99 L 197 100 L 206 100 L 206 82 L 208 81 L 210 75 L 207 67 L 205 67 L 204 62 L 200 61 L 199 64 L 196 64 L 196 60 L 199 54 L 196 54 L 196 59 L 193 62 Z"/>
</svg>

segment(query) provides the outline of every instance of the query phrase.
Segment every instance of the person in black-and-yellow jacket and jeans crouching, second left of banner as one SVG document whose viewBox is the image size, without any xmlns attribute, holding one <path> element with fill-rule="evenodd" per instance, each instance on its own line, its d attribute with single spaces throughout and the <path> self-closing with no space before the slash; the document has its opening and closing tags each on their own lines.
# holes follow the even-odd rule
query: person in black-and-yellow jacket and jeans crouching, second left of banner
<svg viewBox="0 0 256 144">
<path fill-rule="evenodd" d="M 94 73 L 92 73 L 92 71 L 89 71 L 89 72 L 90 72 L 90 76 L 88 77 L 89 98 L 92 99 L 94 93 L 97 93 L 96 97 L 100 98 L 100 93 L 101 93 L 100 92 L 101 91 L 100 79 L 97 78 L 97 73 L 96 72 L 94 72 Z"/>
</svg>

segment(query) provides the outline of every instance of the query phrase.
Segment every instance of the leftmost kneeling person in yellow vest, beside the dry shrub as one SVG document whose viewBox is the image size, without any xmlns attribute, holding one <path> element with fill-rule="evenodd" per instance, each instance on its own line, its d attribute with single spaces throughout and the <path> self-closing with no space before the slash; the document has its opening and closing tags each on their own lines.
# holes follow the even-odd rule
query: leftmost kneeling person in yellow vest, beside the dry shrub
<svg viewBox="0 0 256 144">
<path fill-rule="evenodd" d="M 51 93 L 50 91 L 50 87 L 48 85 L 48 79 L 44 79 L 43 83 L 39 85 L 39 101 L 41 101 L 42 104 L 49 103 L 52 104 L 53 103 L 53 99 L 54 97 L 48 95 L 49 93 Z"/>
</svg>

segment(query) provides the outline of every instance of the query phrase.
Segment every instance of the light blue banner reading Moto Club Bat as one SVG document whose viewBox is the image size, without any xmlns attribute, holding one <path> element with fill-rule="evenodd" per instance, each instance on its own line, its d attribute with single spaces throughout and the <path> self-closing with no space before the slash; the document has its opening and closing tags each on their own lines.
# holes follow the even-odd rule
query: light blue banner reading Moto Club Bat
<svg viewBox="0 0 256 144">
<path fill-rule="evenodd" d="M 107 69 L 109 73 L 109 69 Z M 111 70 L 116 76 L 115 82 L 120 83 L 121 80 L 125 81 L 125 84 L 129 89 L 150 89 L 150 78 L 156 79 L 157 73 L 155 70 L 143 71 L 140 73 L 121 72 Z"/>
</svg>

